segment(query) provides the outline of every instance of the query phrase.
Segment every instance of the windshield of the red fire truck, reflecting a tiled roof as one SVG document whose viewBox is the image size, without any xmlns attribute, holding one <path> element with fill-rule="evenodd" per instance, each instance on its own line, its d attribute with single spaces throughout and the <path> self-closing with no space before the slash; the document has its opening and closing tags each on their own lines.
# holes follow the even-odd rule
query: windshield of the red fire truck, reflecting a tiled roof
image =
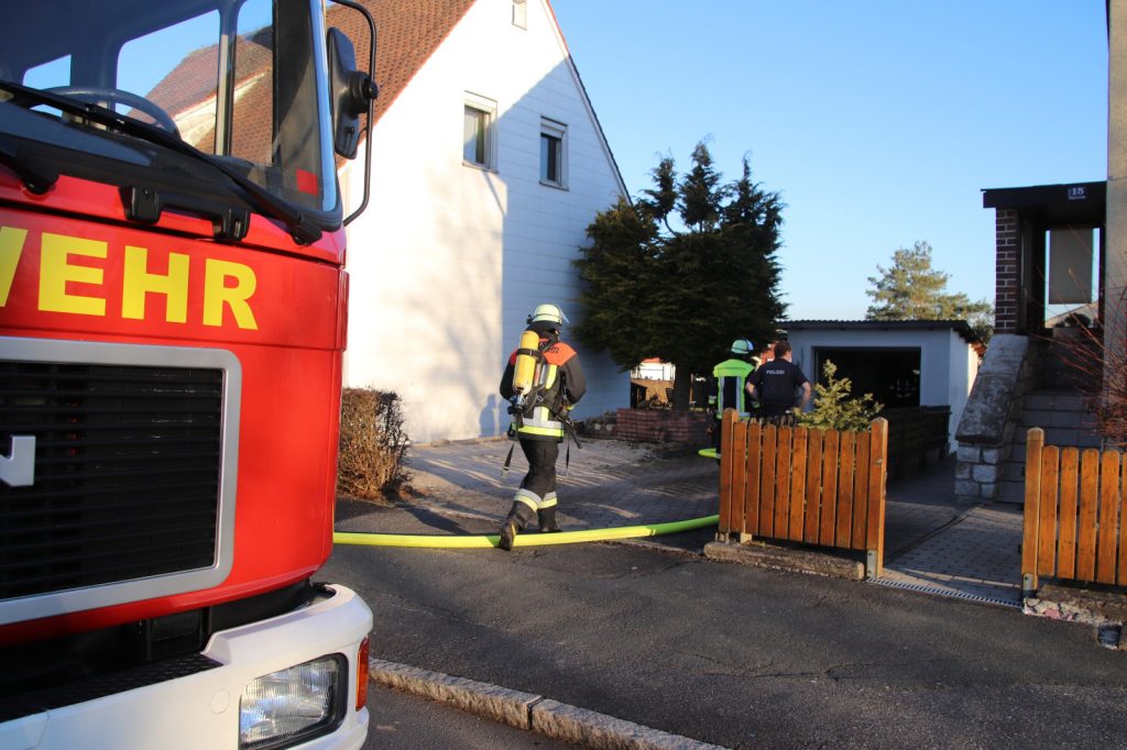
<svg viewBox="0 0 1127 750">
<path fill-rule="evenodd" d="M 0 135 L 87 178 L 90 157 L 167 178 L 171 152 L 206 154 L 218 190 L 234 179 L 291 230 L 339 225 L 320 0 L 20 5 L 0 28 Z"/>
</svg>

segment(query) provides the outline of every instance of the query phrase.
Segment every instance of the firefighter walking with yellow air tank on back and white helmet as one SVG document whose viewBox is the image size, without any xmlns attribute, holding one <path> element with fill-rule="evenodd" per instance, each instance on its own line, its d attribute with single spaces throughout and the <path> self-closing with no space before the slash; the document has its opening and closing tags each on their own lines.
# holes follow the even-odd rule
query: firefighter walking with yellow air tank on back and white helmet
<svg viewBox="0 0 1127 750">
<path fill-rule="evenodd" d="M 512 550 L 513 539 L 533 518 L 541 532 L 558 532 L 556 521 L 556 458 L 564 441 L 565 427 L 570 426 L 568 413 L 587 390 L 587 382 L 579 365 L 579 356 L 559 340 L 566 318 L 553 304 L 539 305 L 529 315 L 529 328 L 540 340 L 541 361 L 536 368 L 538 389 L 520 408 L 515 402 L 513 375 L 517 356 L 514 351 L 500 378 L 500 394 L 513 401 L 513 428 L 521 450 L 529 459 L 529 472 L 513 498 L 513 509 L 500 527 L 502 550 Z"/>
</svg>

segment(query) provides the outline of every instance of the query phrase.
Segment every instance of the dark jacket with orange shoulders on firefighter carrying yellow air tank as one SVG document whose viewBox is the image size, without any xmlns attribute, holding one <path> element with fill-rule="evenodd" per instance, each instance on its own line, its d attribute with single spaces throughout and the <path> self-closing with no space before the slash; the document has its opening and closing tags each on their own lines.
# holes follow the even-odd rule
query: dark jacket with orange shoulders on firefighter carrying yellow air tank
<svg viewBox="0 0 1127 750">
<path fill-rule="evenodd" d="M 536 367 L 538 389 L 530 394 L 520 414 L 514 414 L 516 434 L 533 440 L 562 440 L 564 422 L 571 405 L 587 391 L 587 381 L 579 365 L 579 356 L 567 343 L 540 334 L 543 360 Z M 513 370 L 516 350 L 509 355 L 508 365 L 500 378 L 500 394 L 506 401 L 513 398 Z"/>
</svg>

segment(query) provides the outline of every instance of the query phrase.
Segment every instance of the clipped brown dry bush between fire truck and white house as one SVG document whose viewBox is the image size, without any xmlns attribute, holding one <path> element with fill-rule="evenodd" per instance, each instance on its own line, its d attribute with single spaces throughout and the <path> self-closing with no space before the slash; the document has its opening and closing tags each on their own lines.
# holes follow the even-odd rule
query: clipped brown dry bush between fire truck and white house
<svg viewBox="0 0 1127 750">
<path fill-rule="evenodd" d="M 410 440 L 399 396 L 390 391 L 345 389 L 340 399 L 337 492 L 385 499 L 402 484 Z"/>
</svg>

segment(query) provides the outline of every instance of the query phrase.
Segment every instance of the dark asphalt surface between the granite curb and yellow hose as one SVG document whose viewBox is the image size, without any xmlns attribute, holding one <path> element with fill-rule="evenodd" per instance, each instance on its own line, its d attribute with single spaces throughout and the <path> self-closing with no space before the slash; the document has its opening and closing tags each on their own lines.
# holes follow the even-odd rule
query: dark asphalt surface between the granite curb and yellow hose
<svg viewBox="0 0 1127 750">
<path fill-rule="evenodd" d="M 1127 652 L 1010 608 L 631 544 L 338 545 L 319 578 L 373 657 L 728 748 L 1127 744 Z"/>
</svg>

